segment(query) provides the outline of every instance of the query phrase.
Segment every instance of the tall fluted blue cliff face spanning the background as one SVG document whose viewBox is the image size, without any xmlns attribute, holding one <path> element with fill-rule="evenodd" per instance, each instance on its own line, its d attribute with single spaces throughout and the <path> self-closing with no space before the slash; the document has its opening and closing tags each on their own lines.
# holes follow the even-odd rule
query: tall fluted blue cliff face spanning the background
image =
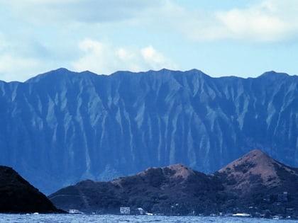
<svg viewBox="0 0 298 223">
<path fill-rule="evenodd" d="M 57 69 L 0 82 L 0 164 L 45 193 L 182 163 L 211 173 L 259 148 L 298 166 L 298 76 Z"/>
</svg>

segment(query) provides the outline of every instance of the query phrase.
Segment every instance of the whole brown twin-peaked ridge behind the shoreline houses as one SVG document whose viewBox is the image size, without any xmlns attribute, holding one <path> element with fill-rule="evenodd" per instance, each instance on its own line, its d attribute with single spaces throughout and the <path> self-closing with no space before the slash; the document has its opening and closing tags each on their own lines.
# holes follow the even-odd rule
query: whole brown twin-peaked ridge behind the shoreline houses
<svg viewBox="0 0 298 223">
<path fill-rule="evenodd" d="M 241 211 L 285 215 L 289 209 L 298 213 L 297 185 L 297 168 L 253 150 L 211 175 L 176 164 L 109 182 L 82 181 L 49 198 L 63 210 L 84 212 L 118 213 L 123 206 L 166 215 Z"/>
</svg>

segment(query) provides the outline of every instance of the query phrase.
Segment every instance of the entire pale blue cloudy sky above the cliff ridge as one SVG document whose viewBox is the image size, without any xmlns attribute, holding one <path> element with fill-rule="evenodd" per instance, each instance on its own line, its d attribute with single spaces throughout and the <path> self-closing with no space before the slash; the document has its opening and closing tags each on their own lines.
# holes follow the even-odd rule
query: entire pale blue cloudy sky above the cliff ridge
<svg viewBox="0 0 298 223">
<path fill-rule="evenodd" d="M 0 0 L 0 80 L 65 67 L 298 74 L 297 0 Z"/>
</svg>

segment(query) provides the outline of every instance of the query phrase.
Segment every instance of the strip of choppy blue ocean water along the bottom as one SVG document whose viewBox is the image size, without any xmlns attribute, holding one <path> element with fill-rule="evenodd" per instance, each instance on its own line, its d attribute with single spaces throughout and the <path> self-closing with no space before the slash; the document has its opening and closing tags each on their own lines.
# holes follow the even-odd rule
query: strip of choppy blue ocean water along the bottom
<svg viewBox="0 0 298 223">
<path fill-rule="evenodd" d="M 165 222 L 165 223 L 270 223 L 270 222 L 298 222 L 290 219 L 260 219 L 241 217 L 197 217 L 197 216 L 146 216 L 146 215 L 6 215 L 0 214 L 0 222 L 5 223 L 87 223 L 87 222 L 116 222 L 116 223 L 139 223 L 139 222 Z"/>
</svg>

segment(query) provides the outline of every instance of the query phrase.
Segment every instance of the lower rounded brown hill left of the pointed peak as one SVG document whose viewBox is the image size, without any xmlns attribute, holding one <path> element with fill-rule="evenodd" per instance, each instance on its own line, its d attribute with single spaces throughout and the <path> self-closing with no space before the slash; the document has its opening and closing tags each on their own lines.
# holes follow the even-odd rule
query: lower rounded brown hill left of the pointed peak
<svg viewBox="0 0 298 223">
<path fill-rule="evenodd" d="M 141 207 L 148 212 L 188 215 L 217 210 L 216 194 L 221 188 L 216 178 L 175 164 L 110 182 L 81 181 L 49 198 L 62 210 L 118 213 L 119 207 L 131 207 L 132 212 Z"/>
</svg>

